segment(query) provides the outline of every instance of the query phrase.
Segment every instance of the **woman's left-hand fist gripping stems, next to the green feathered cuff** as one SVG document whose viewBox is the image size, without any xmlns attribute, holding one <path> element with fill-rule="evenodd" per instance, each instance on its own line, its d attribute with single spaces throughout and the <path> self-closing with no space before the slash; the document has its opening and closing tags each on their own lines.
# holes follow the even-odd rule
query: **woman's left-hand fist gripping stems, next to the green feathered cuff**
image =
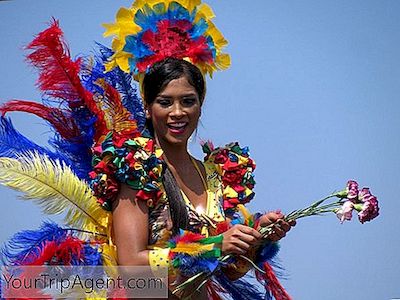
<svg viewBox="0 0 400 300">
<path fill-rule="evenodd" d="M 223 234 L 221 250 L 223 254 L 245 254 L 261 238 L 261 234 L 246 225 L 234 225 Z"/>
</svg>

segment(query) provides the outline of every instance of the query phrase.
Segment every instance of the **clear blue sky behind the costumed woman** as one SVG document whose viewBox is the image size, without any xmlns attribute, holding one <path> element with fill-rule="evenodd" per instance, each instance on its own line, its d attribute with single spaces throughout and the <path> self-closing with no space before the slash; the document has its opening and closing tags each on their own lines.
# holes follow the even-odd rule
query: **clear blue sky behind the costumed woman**
<svg viewBox="0 0 400 300">
<path fill-rule="evenodd" d="M 381 215 L 361 225 L 334 215 L 298 225 L 281 242 L 283 283 L 294 299 L 400 298 L 400 2 L 209 0 L 232 67 L 208 80 L 198 136 L 250 146 L 257 162 L 253 211 L 304 207 L 344 187 L 369 186 Z M 245 4 L 251 4 L 245 6 Z M 130 1 L 1 1 L 0 103 L 39 100 L 22 47 L 54 16 L 72 54 L 87 54 Z M 45 144 L 48 129 L 12 114 Z M 197 142 L 190 145 L 201 157 Z M 0 187 L 0 242 L 43 216 Z M 56 218 L 57 219 L 57 218 Z"/>
</svg>

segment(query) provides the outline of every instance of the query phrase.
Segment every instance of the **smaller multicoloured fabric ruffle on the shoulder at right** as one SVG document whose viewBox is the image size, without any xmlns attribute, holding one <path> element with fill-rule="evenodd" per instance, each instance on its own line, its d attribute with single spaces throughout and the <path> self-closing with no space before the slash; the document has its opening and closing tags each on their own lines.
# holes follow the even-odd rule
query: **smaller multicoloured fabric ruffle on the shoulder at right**
<svg viewBox="0 0 400 300">
<path fill-rule="evenodd" d="M 241 148 L 237 142 L 215 148 L 211 142 L 203 145 L 205 161 L 216 165 L 223 187 L 223 208 L 235 211 L 239 204 L 246 204 L 254 197 L 254 169 L 248 147 Z"/>
</svg>

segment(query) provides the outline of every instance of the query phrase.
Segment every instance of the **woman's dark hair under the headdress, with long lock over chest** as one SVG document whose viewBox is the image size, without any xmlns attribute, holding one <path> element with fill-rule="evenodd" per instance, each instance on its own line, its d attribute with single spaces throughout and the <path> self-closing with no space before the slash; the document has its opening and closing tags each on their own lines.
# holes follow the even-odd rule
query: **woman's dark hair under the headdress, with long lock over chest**
<svg viewBox="0 0 400 300">
<path fill-rule="evenodd" d="M 151 105 L 168 83 L 181 77 L 185 77 L 188 83 L 195 88 L 202 104 L 206 92 L 203 75 L 196 66 L 176 58 L 167 58 L 157 62 L 146 73 L 142 86 L 145 104 Z M 153 124 L 150 119 L 146 120 L 146 127 L 154 136 Z M 189 216 L 178 183 L 168 167 L 164 173 L 163 183 L 169 201 L 172 231 L 173 234 L 178 234 L 180 228 L 187 229 Z"/>
</svg>

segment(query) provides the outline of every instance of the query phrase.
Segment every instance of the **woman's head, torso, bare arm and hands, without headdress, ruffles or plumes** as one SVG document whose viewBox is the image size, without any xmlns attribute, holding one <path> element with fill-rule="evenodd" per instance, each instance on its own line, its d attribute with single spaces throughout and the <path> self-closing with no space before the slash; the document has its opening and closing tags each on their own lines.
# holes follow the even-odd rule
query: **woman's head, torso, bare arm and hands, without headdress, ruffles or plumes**
<svg viewBox="0 0 400 300">
<path fill-rule="evenodd" d="M 210 193 L 209 185 L 214 184 L 207 180 L 210 172 L 187 150 L 205 98 L 200 70 L 174 58 L 156 63 L 144 77 L 143 95 L 147 125 L 167 165 L 163 178 L 165 196 L 155 207 L 149 208 L 145 201 L 135 197 L 135 190 L 121 186 L 113 202 L 113 232 L 120 265 L 149 265 L 155 255 L 149 246 L 166 247 L 168 239 L 179 228 L 208 236 L 213 225 L 229 217 L 221 209 L 220 188 Z M 210 206 L 214 209 L 210 210 Z M 275 212 L 259 220 L 259 226 L 272 223 L 279 224 L 268 237 L 272 241 L 284 237 L 294 225 Z M 256 229 L 240 224 L 222 235 L 223 254 L 246 254 L 261 238 Z"/>
</svg>

